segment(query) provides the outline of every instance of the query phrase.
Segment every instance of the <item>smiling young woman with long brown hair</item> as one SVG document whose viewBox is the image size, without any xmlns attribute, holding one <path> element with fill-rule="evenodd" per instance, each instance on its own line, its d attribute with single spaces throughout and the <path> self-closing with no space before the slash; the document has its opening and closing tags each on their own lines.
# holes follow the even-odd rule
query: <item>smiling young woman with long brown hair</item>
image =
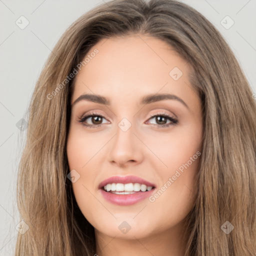
<svg viewBox="0 0 256 256">
<path fill-rule="evenodd" d="M 16 255 L 255 255 L 256 104 L 175 0 L 113 0 L 61 36 L 29 108 Z"/>
</svg>

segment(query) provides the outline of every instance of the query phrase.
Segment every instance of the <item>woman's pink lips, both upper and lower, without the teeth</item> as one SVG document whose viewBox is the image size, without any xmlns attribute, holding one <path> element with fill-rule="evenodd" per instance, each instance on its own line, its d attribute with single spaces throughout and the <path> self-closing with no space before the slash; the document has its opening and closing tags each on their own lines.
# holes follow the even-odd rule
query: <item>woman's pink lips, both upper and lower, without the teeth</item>
<svg viewBox="0 0 256 256">
<path fill-rule="evenodd" d="M 140 183 L 140 184 L 145 184 L 147 186 L 153 186 L 154 188 L 151 189 L 150 191 L 145 191 L 145 192 L 136 192 L 132 194 L 114 194 L 110 192 L 106 192 L 104 190 L 104 185 L 108 183 Z M 98 185 L 98 188 L 100 189 L 100 192 L 102 196 L 107 200 L 108 202 L 111 202 L 113 204 L 118 204 L 118 205 L 130 205 L 137 203 L 145 198 L 148 198 L 150 194 L 155 190 L 155 185 L 151 182 L 148 182 L 147 180 L 137 177 L 137 176 L 112 176 L 110 178 L 107 178 L 100 182 Z"/>
</svg>

